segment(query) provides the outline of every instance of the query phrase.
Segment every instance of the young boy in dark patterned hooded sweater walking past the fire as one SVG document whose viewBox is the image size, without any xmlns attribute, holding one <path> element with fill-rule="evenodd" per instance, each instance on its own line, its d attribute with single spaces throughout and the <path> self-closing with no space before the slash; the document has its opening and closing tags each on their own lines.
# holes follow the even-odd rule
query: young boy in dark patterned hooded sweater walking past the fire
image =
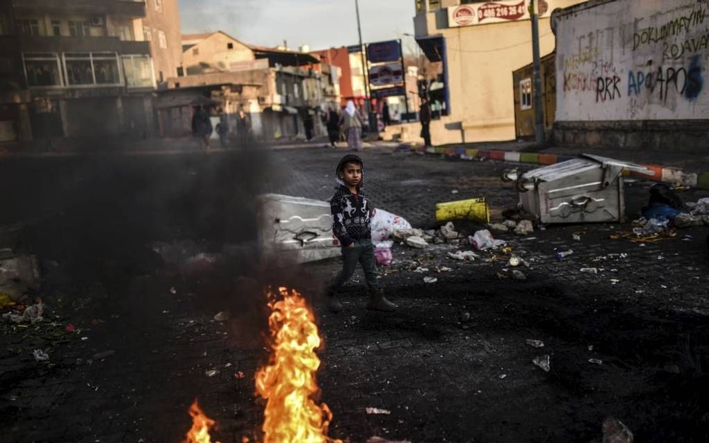
<svg viewBox="0 0 709 443">
<path fill-rule="evenodd" d="M 376 262 L 369 219 L 372 207 L 362 191 L 364 187 L 364 165 L 357 155 L 345 155 L 335 171 L 340 187 L 330 199 L 333 214 L 333 233 L 342 246 L 342 271 L 335 277 L 328 290 L 328 307 L 333 312 L 342 310 L 335 291 L 354 274 L 357 263 L 362 264 L 369 289 L 367 309 L 390 312 L 396 305 L 384 298 L 376 281 Z"/>
</svg>

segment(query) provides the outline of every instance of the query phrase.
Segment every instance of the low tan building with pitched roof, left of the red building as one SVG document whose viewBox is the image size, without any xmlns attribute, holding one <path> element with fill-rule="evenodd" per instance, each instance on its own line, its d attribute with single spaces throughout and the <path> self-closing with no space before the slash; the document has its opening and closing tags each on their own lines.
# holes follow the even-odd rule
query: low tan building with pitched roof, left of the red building
<svg viewBox="0 0 709 443">
<path fill-rule="evenodd" d="M 196 106 L 205 105 L 213 122 L 224 118 L 232 133 L 242 108 L 252 137 L 262 142 L 305 138 L 308 123 L 313 135 L 326 134 L 321 117 L 340 100 L 336 67 L 318 65 L 306 52 L 247 45 L 221 31 L 184 35 L 182 50 L 179 75 L 168 79 L 157 100 L 163 137 L 188 135 Z"/>
</svg>

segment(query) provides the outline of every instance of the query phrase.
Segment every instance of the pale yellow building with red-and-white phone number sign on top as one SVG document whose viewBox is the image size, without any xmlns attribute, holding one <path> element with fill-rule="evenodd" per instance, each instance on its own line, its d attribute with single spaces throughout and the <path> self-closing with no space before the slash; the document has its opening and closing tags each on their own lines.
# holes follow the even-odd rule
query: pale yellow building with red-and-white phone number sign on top
<svg viewBox="0 0 709 443">
<path fill-rule="evenodd" d="M 532 62 L 531 0 L 416 0 L 415 38 L 432 62 L 442 62 L 430 96 L 435 145 L 513 140 L 512 72 Z M 579 0 L 538 0 L 540 54 L 554 50 L 554 9 Z M 442 86 L 442 89 L 441 89 Z"/>
</svg>

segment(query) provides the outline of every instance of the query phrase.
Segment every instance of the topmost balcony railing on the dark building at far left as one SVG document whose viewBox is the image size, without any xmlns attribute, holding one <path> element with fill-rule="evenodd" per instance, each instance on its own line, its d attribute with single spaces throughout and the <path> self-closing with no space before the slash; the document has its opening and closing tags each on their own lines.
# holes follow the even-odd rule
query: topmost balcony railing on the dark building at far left
<svg viewBox="0 0 709 443">
<path fill-rule="evenodd" d="M 12 0 L 12 4 L 16 10 L 27 13 L 145 17 L 145 1 L 141 0 Z"/>
</svg>

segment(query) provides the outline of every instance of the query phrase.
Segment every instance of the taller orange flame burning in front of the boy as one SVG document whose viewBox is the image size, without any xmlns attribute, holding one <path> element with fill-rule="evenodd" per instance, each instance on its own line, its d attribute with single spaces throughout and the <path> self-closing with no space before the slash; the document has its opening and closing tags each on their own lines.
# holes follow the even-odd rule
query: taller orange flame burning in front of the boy
<svg viewBox="0 0 709 443">
<path fill-rule="evenodd" d="M 320 359 L 318 327 L 306 301 L 296 291 L 279 288 L 280 300 L 269 293 L 269 327 L 273 352 L 256 374 L 256 391 L 266 402 L 263 443 L 326 443 L 333 418 L 318 393 L 316 371 Z"/>
</svg>

